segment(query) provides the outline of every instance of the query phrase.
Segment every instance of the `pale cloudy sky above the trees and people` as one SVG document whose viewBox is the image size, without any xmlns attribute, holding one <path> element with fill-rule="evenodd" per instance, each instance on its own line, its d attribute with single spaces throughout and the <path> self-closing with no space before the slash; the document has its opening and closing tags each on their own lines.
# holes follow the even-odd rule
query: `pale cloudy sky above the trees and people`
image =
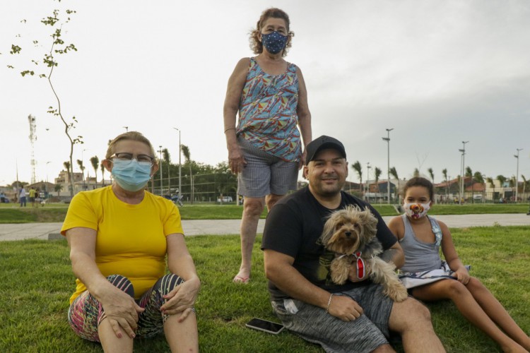
<svg viewBox="0 0 530 353">
<path fill-rule="evenodd" d="M 290 16 L 285 59 L 305 78 L 313 137 L 341 140 L 363 180 L 368 163 L 370 179 L 374 167 L 386 179 L 388 158 L 400 179 L 428 168 L 435 182 L 442 169 L 455 178 L 463 141 L 473 173 L 510 178 L 519 161 L 519 181 L 530 179 L 529 1 L 20 0 L 0 12 L 0 186 L 17 172 L 31 181 L 32 153 L 36 181 L 53 181 L 69 159 L 64 125 L 47 113 L 57 101 L 37 78 L 47 73 L 51 40 L 40 19 L 55 8 L 63 19 L 76 11 L 62 30 L 78 51 L 57 57 L 52 80 L 64 116 L 78 121 L 71 134 L 83 136 L 74 172 L 83 159 L 93 177 L 89 158 L 102 160 L 126 128 L 167 148 L 175 163 L 179 131 L 192 160 L 228 160 L 226 85 L 237 61 L 254 56 L 249 32 L 271 6 Z M 11 44 L 22 52 L 9 54 Z M 25 69 L 35 76 L 20 76 Z M 348 180 L 359 181 L 351 168 Z"/>
</svg>

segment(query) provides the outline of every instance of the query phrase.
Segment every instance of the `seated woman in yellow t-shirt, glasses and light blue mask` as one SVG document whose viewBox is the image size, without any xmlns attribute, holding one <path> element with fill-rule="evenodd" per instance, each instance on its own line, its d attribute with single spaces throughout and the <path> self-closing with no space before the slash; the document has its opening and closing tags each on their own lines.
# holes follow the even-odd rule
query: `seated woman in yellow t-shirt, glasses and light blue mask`
<svg viewBox="0 0 530 353">
<path fill-rule="evenodd" d="M 76 194 L 61 228 L 77 277 L 71 328 L 105 352 L 132 352 L 134 338 L 159 333 L 171 352 L 198 352 L 201 282 L 177 206 L 145 190 L 158 171 L 153 145 L 139 132 L 122 133 L 102 164 L 113 184 Z"/>
</svg>

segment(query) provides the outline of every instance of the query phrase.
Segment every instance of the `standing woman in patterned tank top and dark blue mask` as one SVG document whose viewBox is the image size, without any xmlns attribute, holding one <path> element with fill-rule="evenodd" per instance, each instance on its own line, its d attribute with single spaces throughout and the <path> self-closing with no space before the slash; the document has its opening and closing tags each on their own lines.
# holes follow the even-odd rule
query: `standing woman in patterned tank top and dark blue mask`
<svg viewBox="0 0 530 353">
<path fill-rule="evenodd" d="M 245 196 L 241 266 L 234 282 L 249 281 L 259 216 L 265 205 L 271 210 L 296 189 L 312 138 L 302 72 L 283 59 L 294 36 L 289 25 L 289 16 L 279 8 L 261 13 L 250 36 L 257 56 L 241 59 L 228 80 L 223 112 L 228 162 L 237 174 L 237 193 Z"/>
</svg>

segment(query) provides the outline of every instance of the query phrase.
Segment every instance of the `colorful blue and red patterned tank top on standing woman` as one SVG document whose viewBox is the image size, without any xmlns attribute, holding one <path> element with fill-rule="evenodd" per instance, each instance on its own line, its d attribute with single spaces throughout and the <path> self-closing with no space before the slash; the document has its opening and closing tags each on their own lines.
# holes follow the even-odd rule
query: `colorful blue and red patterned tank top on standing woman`
<svg viewBox="0 0 530 353">
<path fill-rule="evenodd" d="M 298 131 L 298 76 L 295 64 L 287 71 L 269 75 L 250 58 L 241 95 L 238 138 L 289 162 L 298 162 L 302 149 Z"/>
</svg>

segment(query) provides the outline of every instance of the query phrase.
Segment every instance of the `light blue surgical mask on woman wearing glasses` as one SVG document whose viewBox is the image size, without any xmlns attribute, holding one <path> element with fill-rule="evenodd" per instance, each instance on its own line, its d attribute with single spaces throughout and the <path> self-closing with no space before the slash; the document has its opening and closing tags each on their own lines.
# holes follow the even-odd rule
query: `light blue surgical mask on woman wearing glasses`
<svg viewBox="0 0 530 353">
<path fill-rule="evenodd" d="M 112 177 L 126 191 L 139 191 L 151 179 L 151 163 L 137 160 L 112 160 Z"/>
</svg>

